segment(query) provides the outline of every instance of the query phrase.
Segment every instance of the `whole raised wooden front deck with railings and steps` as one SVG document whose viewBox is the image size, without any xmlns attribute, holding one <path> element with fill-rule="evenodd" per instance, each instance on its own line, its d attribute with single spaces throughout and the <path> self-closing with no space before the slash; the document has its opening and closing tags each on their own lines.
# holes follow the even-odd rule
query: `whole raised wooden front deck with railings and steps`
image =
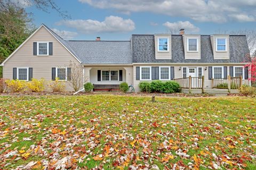
<svg viewBox="0 0 256 170">
<path fill-rule="evenodd" d="M 207 82 L 207 87 L 205 86 L 206 81 L 204 75 L 199 77 L 187 77 L 174 79 L 180 84 L 181 92 L 190 94 L 214 94 L 214 95 L 227 95 L 239 93 L 239 88 L 243 84 L 243 78 L 241 77 L 230 77 L 227 79 L 211 79 Z"/>
</svg>

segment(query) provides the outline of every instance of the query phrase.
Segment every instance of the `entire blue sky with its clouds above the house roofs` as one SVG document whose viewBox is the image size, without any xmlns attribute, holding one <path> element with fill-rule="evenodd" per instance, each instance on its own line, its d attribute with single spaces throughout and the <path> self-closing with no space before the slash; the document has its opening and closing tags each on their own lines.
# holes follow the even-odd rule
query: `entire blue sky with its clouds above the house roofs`
<svg viewBox="0 0 256 170">
<path fill-rule="evenodd" d="M 56 0 L 71 19 L 56 11 L 46 13 L 33 5 L 34 23 L 46 24 L 65 39 L 129 40 L 132 34 L 186 33 L 213 34 L 218 30 L 256 28 L 256 1 L 252 0 Z M 171 31 L 170 31 L 171 30 Z"/>
</svg>

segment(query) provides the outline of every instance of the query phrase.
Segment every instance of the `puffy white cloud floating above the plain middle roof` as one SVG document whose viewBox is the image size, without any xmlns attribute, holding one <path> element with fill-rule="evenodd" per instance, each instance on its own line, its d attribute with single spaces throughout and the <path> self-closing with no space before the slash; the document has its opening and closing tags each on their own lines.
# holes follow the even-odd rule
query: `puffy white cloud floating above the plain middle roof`
<svg viewBox="0 0 256 170">
<path fill-rule="evenodd" d="M 76 28 L 82 33 L 128 32 L 135 29 L 135 24 L 131 19 L 123 19 L 119 16 L 107 16 L 102 22 L 97 20 L 67 20 L 59 21 L 57 24 Z"/>
</svg>

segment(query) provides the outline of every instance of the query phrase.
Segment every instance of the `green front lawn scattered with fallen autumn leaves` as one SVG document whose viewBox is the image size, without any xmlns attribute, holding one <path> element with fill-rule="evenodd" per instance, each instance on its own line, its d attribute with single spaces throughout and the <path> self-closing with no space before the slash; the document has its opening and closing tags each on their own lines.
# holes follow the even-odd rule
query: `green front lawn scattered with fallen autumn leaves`
<svg viewBox="0 0 256 170">
<path fill-rule="evenodd" d="M 256 169 L 256 99 L 156 101 L 0 96 L 0 169 Z"/>
</svg>

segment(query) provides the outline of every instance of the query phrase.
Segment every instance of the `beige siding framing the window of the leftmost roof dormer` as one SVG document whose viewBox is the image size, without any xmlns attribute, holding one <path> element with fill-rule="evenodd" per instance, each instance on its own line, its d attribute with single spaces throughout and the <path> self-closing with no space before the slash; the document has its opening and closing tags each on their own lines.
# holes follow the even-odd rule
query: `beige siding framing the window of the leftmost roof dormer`
<svg viewBox="0 0 256 170">
<path fill-rule="evenodd" d="M 168 52 L 158 52 L 158 38 L 169 38 Z M 155 35 L 155 56 L 156 56 L 156 59 L 172 59 L 172 36 L 171 35 Z"/>
</svg>

